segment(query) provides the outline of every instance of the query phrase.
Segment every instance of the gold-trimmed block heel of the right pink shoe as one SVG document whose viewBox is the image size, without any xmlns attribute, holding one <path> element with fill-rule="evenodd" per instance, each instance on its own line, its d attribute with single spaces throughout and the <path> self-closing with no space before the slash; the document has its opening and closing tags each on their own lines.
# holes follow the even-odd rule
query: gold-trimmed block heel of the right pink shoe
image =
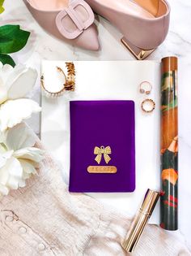
<svg viewBox="0 0 191 256">
<path fill-rule="evenodd" d="M 125 37 L 121 38 L 121 42 L 138 60 L 146 59 L 151 53 L 155 51 L 155 49 L 143 50 L 141 48 L 138 48 L 137 46 L 134 46 L 131 42 L 129 42 Z"/>
</svg>

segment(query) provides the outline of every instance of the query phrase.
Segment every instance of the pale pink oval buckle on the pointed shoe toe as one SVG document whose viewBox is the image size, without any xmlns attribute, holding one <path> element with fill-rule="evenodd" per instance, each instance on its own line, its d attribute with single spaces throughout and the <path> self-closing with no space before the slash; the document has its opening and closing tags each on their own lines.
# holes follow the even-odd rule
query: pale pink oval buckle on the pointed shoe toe
<svg viewBox="0 0 191 256">
<path fill-rule="evenodd" d="M 83 9 L 85 9 L 85 11 L 87 12 L 88 18 L 86 21 L 83 21 L 82 17 L 75 10 L 79 6 L 83 7 Z M 76 26 L 76 29 L 73 32 L 70 32 L 70 29 L 67 29 L 66 26 L 64 26 L 63 20 L 67 15 L 70 17 L 70 19 L 74 22 Z M 87 2 L 83 0 L 74 0 L 70 2 L 69 7 L 60 11 L 56 17 L 57 29 L 60 33 L 62 33 L 62 36 L 68 39 L 74 39 L 76 37 L 79 37 L 79 35 L 83 33 L 83 30 L 89 28 L 91 24 L 93 24 L 93 22 L 94 13 L 91 10 L 91 7 L 87 4 Z"/>
</svg>

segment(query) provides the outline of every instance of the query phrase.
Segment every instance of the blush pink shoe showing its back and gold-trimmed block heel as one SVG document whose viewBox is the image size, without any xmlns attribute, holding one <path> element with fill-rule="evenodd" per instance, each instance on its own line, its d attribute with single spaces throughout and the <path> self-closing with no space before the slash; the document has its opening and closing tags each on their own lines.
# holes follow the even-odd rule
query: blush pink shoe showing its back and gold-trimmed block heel
<svg viewBox="0 0 191 256">
<path fill-rule="evenodd" d="M 170 7 L 166 0 L 86 0 L 93 11 L 124 35 L 125 47 L 136 59 L 146 59 L 168 34 Z"/>
</svg>

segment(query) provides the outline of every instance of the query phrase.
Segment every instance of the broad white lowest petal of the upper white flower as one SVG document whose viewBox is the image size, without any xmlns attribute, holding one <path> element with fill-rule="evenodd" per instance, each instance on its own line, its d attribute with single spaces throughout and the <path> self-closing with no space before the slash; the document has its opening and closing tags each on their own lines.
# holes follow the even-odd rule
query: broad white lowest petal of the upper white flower
<svg viewBox="0 0 191 256">
<path fill-rule="evenodd" d="M 0 129 L 12 128 L 24 119 L 31 117 L 32 113 L 39 112 L 40 106 L 31 99 L 21 98 L 10 100 L 0 106 Z"/>
</svg>

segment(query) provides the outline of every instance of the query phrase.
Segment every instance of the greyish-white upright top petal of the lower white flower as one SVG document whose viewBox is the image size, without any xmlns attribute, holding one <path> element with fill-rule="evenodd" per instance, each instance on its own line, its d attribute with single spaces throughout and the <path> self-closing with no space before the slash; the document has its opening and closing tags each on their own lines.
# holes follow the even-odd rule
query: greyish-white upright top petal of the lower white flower
<svg viewBox="0 0 191 256">
<path fill-rule="evenodd" d="M 26 124 L 17 124 L 7 132 L 6 147 L 8 150 L 20 150 L 35 145 L 36 139 Z"/>
</svg>

